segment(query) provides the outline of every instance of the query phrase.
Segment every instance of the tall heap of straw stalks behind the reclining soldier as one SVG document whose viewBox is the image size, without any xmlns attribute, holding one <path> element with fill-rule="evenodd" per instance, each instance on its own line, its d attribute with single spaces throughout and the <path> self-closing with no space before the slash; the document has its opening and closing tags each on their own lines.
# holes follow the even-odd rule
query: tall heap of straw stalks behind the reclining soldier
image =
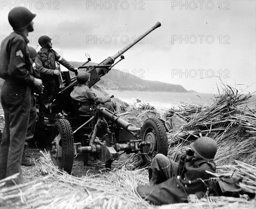
<svg viewBox="0 0 256 209">
<path fill-rule="evenodd" d="M 177 132 L 167 134 L 169 157 L 177 160 L 182 149 L 197 137 L 209 136 L 218 145 L 218 166 L 232 164 L 233 160 L 256 166 L 256 109 L 247 106 L 252 96 L 227 87 L 205 106 L 182 103 L 179 110 L 170 109 L 169 115 L 175 113 L 186 123 Z M 139 155 L 128 160 L 135 167 L 143 163 Z"/>
</svg>

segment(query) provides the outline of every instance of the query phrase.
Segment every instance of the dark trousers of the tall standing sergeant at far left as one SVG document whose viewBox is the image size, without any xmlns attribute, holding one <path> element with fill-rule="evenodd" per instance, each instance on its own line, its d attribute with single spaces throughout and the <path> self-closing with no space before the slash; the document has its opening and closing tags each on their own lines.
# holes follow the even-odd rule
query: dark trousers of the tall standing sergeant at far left
<svg viewBox="0 0 256 209">
<path fill-rule="evenodd" d="M 29 122 L 31 88 L 6 80 L 1 90 L 5 126 L 0 145 L 0 179 L 20 173 Z"/>
</svg>

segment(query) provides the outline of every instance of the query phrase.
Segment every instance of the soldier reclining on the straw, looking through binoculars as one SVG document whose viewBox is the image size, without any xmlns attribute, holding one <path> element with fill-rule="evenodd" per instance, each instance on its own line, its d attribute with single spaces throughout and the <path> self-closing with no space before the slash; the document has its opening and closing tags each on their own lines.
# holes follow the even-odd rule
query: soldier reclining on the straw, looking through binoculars
<svg viewBox="0 0 256 209">
<path fill-rule="evenodd" d="M 200 137 L 190 148 L 178 163 L 157 154 L 149 170 L 151 185 L 139 185 L 140 196 L 155 204 L 171 204 L 186 202 L 189 194 L 203 192 L 206 187 L 202 180 L 212 177 L 206 170 L 216 170 L 213 160 L 217 145 L 209 137 Z"/>
</svg>

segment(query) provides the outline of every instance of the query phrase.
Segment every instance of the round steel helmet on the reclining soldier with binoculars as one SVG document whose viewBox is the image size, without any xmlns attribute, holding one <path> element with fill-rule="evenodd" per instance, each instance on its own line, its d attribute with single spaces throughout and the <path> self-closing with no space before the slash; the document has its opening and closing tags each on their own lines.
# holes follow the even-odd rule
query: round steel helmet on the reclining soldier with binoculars
<svg viewBox="0 0 256 209">
<path fill-rule="evenodd" d="M 200 137 L 190 144 L 190 147 L 196 154 L 204 160 L 214 160 L 217 152 L 217 144 L 210 137 Z"/>
</svg>

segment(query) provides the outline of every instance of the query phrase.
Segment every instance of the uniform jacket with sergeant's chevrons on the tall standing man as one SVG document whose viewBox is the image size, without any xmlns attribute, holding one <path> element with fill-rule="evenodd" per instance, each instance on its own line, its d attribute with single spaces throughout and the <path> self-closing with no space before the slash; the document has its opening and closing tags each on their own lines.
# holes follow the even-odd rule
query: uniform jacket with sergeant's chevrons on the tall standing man
<svg viewBox="0 0 256 209">
<path fill-rule="evenodd" d="M 6 37 L 0 50 L 0 77 L 17 84 L 34 86 L 32 60 L 27 47 L 29 40 L 19 32 Z"/>
</svg>

